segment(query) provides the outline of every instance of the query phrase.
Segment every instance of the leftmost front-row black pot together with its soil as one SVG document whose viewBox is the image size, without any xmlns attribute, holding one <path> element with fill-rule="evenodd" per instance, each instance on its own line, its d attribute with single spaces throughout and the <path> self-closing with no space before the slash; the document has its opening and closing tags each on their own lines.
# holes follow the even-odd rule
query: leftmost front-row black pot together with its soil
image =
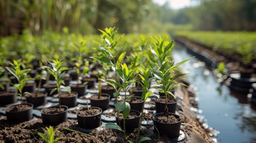
<svg viewBox="0 0 256 143">
<path fill-rule="evenodd" d="M 11 105 L 5 109 L 5 114 L 9 123 L 28 121 L 33 117 L 33 104 Z"/>
</svg>

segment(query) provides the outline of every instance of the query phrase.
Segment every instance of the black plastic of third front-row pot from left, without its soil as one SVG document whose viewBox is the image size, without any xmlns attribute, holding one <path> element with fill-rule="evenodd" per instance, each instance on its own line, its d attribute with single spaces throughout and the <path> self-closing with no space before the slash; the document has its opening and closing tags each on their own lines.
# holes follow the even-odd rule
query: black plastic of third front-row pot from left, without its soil
<svg viewBox="0 0 256 143">
<path fill-rule="evenodd" d="M 85 111 L 86 108 L 82 108 L 78 111 L 76 111 L 76 116 L 78 119 L 78 126 L 82 129 L 95 129 L 98 128 L 101 125 L 101 108 L 98 107 L 91 107 L 91 108 L 97 108 L 100 110 L 100 113 L 92 115 L 92 116 L 81 116 L 78 114 L 79 111 Z"/>
</svg>

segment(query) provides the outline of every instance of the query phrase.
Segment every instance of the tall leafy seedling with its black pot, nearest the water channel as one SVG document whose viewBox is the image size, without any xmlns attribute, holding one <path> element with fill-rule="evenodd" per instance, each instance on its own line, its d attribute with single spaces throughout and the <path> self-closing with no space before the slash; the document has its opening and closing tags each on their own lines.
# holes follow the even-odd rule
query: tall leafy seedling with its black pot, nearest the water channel
<svg viewBox="0 0 256 143">
<path fill-rule="evenodd" d="M 158 130 L 160 135 L 177 138 L 180 136 L 181 117 L 175 114 L 177 100 L 174 94 L 172 94 L 171 89 L 179 84 L 175 80 L 184 75 L 183 73 L 175 74 L 175 69 L 189 59 L 174 64 L 174 61 L 171 61 L 170 57 L 168 57 L 173 41 L 165 43 L 165 38 L 162 39 L 161 37 L 152 40 L 153 45 L 150 46 L 150 51 L 153 57 L 151 55 L 146 56 L 155 64 L 152 67 L 153 77 L 157 83 L 155 87 L 165 94 L 164 108 L 161 106 L 162 104 L 158 105 L 158 102 L 162 102 L 161 98 L 160 101 L 156 100 L 157 114 L 152 117 L 153 124 L 155 130 Z M 172 102 L 174 103 L 172 104 Z M 168 104 L 171 104 L 171 106 L 168 107 Z M 160 106 L 160 110 L 158 110 L 158 106 Z"/>
</svg>

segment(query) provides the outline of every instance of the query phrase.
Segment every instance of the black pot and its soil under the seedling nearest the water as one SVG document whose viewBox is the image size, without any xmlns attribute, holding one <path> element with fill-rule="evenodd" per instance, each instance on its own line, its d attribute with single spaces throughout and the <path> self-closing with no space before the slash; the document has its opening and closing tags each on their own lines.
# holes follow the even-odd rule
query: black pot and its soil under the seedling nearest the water
<svg viewBox="0 0 256 143">
<path fill-rule="evenodd" d="M 169 113 L 168 118 L 163 113 L 155 114 L 152 117 L 154 131 L 169 138 L 180 136 L 181 117 L 177 114 Z"/>
</svg>

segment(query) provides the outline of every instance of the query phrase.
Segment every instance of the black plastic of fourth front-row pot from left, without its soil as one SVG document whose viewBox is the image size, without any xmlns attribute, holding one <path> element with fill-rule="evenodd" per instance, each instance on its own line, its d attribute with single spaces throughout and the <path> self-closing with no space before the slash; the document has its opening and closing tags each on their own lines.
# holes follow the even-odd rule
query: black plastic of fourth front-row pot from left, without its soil
<svg viewBox="0 0 256 143">
<path fill-rule="evenodd" d="M 120 113 L 122 113 L 122 111 L 120 111 Z M 132 132 L 134 129 L 138 128 L 138 126 L 140 125 L 140 116 L 141 113 L 139 111 L 135 111 L 135 110 L 131 110 L 131 113 L 136 113 L 138 115 L 138 117 L 132 118 L 132 119 L 125 119 L 125 130 L 127 132 Z M 116 123 L 121 123 L 121 128 L 124 130 L 124 119 L 119 118 L 118 121 L 118 113 L 115 114 L 116 116 Z"/>
</svg>

